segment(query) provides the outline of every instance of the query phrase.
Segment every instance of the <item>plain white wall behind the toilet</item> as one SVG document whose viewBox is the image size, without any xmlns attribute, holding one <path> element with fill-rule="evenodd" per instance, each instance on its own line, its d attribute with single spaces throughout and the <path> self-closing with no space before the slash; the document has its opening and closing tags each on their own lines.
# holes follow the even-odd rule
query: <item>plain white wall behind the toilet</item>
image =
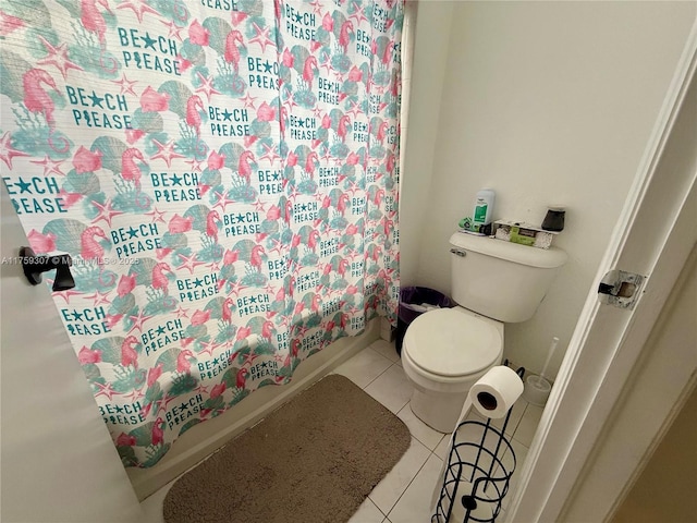
<svg viewBox="0 0 697 523">
<path fill-rule="evenodd" d="M 561 350 L 553 376 L 697 4 L 426 2 L 419 5 L 417 27 L 424 5 L 444 13 L 452 27 L 444 77 L 436 77 L 430 90 L 413 87 L 411 97 L 411 111 L 439 108 L 440 114 L 430 142 L 417 144 L 416 123 L 409 123 L 402 264 L 407 267 L 405 258 L 416 250 L 419 262 L 415 278 L 407 271 L 403 283 L 450 292 L 448 238 L 472 212 L 481 187 L 497 191 L 494 219 L 540 223 L 548 205 L 565 205 L 566 228 L 555 245 L 568 253 L 570 262 L 536 316 L 506 326 L 505 333 L 505 356 L 537 372 L 551 338 L 558 336 Z M 435 39 L 447 32 L 428 29 Z M 418 61 L 419 46 L 428 46 L 428 38 L 419 36 L 417 29 L 415 82 L 430 77 L 438 62 L 433 57 L 433 62 Z M 409 162 L 411 158 L 421 161 Z M 424 196 L 426 182 L 418 185 L 413 179 L 425 175 L 428 158 L 433 158 L 432 181 Z M 421 229 L 412 227 L 409 219 L 418 219 Z"/>
</svg>

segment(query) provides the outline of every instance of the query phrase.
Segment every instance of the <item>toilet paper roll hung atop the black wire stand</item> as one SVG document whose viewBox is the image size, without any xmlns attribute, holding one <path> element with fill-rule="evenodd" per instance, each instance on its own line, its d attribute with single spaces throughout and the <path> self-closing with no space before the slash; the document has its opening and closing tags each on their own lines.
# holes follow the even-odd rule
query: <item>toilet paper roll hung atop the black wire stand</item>
<svg viewBox="0 0 697 523">
<path fill-rule="evenodd" d="M 492 367 L 469 389 L 468 398 L 484 417 L 505 416 L 523 393 L 523 380 L 504 365 Z"/>
</svg>

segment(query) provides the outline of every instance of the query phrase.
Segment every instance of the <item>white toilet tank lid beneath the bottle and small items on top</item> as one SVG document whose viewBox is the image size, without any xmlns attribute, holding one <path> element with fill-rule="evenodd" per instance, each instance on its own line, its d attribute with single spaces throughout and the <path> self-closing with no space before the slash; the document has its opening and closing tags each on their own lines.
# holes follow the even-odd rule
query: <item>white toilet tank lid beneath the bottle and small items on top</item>
<svg viewBox="0 0 697 523">
<path fill-rule="evenodd" d="M 561 267 L 568 259 L 568 255 L 558 247 L 538 248 L 466 232 L 453 233 L 450 244 L 465 251 L 543 269 Z"/>
</svg>

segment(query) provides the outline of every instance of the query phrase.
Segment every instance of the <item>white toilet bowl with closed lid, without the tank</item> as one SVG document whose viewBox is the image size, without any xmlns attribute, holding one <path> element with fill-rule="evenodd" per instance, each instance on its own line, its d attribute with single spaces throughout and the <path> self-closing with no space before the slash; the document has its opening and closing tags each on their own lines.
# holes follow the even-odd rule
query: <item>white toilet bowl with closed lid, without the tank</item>
<svg viewBox="0 0 697 523">
<path fill-rule="evenodd" d="M 430 311 L 407 328 L 404 374 L 414 414 L 441 433 L 453 430 L 469 388 L 501 362 L 503 324 L 463 307 Z"/>
</svg>

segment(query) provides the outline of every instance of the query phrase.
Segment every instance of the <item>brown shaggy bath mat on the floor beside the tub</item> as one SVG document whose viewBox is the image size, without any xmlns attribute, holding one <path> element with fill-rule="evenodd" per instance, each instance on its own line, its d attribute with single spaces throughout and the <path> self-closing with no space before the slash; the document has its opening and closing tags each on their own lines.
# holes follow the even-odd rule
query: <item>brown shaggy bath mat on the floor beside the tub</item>
<svg viewBox="0 0 697 523">
<path fill-rule="evenodd" d="M 180 477 L 164 521 L 346 522 L 411 439 L 360 388 L 327 376 Z"/>
</svg>

